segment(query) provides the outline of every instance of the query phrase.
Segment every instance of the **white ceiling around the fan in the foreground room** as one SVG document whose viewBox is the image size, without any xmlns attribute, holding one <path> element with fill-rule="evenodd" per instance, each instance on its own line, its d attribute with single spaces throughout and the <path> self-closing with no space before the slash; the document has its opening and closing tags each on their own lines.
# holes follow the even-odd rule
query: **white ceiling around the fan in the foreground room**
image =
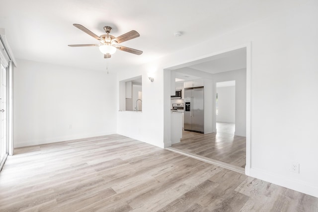
<svg viewBox="0 0 318 212">
<path fill-rule="evenodd" d="M 60 64 L 89 70 L 117 70 L 147 63 L 220 36 L 251 22 L 279 13 L 301 0 L 0 0 L 0 28 L 17 59 Z M 103 26 L 115 37 L 136 30 L 140 37 L 122 43 L 144 51 L 141 56 L 117 51 L 103 59 L 98 47 L 71 48 L 68 44 L 98 44 L 72 24 L 97 35 Z M 181 37 L 173 33 L 181 31 Z M 219 63 L 224 63 L 219 61 Z M 220 64 L 215 63 L 215 69 Z M 203 67 L 203 68 L 202 68 Z M 204 69 L 204 65 L 195 66 Z"/>
</svg>

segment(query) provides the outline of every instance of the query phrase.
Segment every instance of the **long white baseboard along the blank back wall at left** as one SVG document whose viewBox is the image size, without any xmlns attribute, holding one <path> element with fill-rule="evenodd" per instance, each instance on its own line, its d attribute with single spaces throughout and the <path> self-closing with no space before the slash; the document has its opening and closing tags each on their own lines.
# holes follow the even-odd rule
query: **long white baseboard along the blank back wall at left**
<svg viewBox="0 0 318 212">
<path fill-rule="evenodd" d="M 91 137 L 97 137 L 97 136 L 107 136 L 111 134 L 116 134 L 116 132 L 101 132 L 101 133 L 95 133 L 95 134 L 62 136 L 62 137 L 38 139 L 38 140 L 14 141 L 14 148 L 23 147 L 23 146 L 33 146 L 33 145 L 39 145 L 39 144 L 45 144 L 45 143 L 54 143 L 54 142 L 61 142 L 61 141 L 91 138 Z"/>
</svg>

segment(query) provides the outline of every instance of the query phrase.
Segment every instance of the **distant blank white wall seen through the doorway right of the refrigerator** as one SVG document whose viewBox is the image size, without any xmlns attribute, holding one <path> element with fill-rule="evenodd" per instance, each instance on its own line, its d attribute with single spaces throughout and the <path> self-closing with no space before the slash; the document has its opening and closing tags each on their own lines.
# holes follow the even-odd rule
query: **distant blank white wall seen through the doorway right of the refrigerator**
<svg viewBox="0 0 318 212">
<path fill-rule="evenodd" d="M 217 93 L 217 122 L 235 123 L 235 86 L 217 87 Z"/>
</svg>

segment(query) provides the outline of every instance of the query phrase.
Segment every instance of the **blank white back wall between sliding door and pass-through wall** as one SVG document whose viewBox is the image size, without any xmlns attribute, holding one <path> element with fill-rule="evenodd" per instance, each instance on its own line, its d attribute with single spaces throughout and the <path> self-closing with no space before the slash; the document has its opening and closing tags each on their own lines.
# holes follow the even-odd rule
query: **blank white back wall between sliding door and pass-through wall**
<svg viewBox="0 0 318 212">
<path fill-rule="evenodd" d="M 116 75 L 18 60 L 14 146 L 116 133 Z"/>
</svg>

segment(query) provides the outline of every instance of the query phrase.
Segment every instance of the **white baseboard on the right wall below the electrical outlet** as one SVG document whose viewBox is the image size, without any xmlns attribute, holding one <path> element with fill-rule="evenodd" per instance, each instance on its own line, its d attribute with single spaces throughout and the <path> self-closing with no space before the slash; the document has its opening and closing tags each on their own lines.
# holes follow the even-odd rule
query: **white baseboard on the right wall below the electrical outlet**
<svg viewBox="0 0 318 212">
<path fill-rule="evenodd" d="M 285 176 L 275 175 L 256 168 L 250 168 L 250 176 L 318 198 L 317 185 L 312 185 L 300 180 L 289 179 Z"/>
</svg>

